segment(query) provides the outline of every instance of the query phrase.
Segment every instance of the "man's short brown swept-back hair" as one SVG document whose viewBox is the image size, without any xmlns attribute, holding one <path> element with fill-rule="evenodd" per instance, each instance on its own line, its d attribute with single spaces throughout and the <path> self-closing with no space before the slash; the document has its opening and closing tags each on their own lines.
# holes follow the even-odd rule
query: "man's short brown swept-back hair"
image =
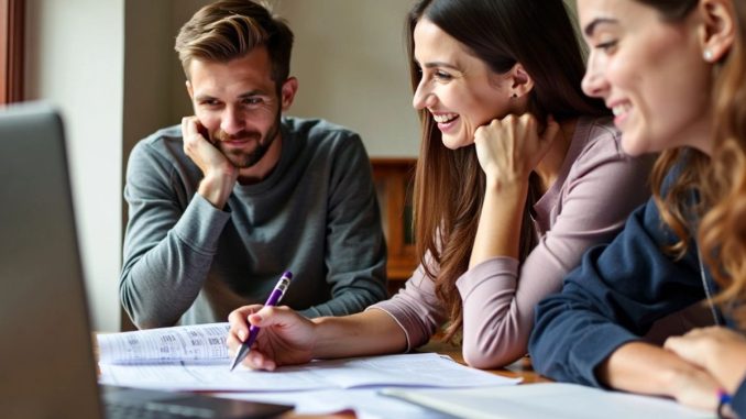
<svg viewBox="0 0 746 419">
<path fill-rule="evenodd" d="M 219 0 L 201 8 L 182 26 L 175 49 L 187 79 L 193 59 L 228 63 L 266 47 L 272 79 L 279 91 L 290 71 L 293 31 L 267 7 L 251 0 Z"/>
</svg>

